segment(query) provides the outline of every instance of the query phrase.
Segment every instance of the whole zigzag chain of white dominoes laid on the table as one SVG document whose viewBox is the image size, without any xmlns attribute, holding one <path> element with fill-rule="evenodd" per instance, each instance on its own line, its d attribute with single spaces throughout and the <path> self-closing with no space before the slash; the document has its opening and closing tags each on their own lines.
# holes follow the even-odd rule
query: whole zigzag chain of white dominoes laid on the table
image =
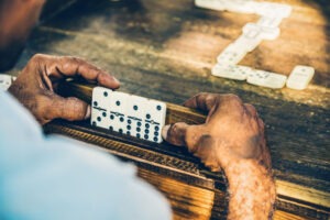
<svg viewBox="0 0 330 220">
<path fill-rule="evenodd" d="M 217 65 L 212 68 L 213 76 L 246 80 L 249 84 L 273 89 L 283 88 L 285 84 L 293 89 L 307 87 L 315 73 L 315 69 L 309 66 L 296 66 L 287 79 L 285 75 L 238 65 L 262 41 L 272 41 L 279 36 L 278 25 L 283 19 L 290 15 L 292 7 L 253 0 L 195 0 L 195 3 L 198 7 L 218 11 L 261 15 L 256 23 L 248 23 L 243 28 L 242 35 L 217 57 Z"/>
</svg>

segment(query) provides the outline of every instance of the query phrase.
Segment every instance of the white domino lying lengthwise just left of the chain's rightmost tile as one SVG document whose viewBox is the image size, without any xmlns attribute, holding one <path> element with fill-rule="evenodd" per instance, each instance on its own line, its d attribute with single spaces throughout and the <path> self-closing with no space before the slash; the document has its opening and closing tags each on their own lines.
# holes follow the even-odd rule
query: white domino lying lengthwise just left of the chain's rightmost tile
<svg viewBox="0 0 330 220">
<path fill-rule="evenodd" d="M 248 76 L 246 81 L 255 86 L 280 89 L 284 87 L 287 77 L 264 70 L 255 70 L 255 74 Z"/>
</svg>

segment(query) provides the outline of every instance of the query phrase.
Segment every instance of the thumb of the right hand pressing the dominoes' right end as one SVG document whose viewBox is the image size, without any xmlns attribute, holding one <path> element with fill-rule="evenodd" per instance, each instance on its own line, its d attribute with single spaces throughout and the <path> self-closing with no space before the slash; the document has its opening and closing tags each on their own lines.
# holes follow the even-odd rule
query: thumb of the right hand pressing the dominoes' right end
<svg viewBox="0 0 330 220">
<path fill-rule="evenodd" d="M 165 125 L 162 136 L 165 141 L 177 146 L 186 145 L 193 153 L 196 152 L 200 138 L 207 133 L 204 124 L 188 125 L 184 122 Z"/>
</svg>

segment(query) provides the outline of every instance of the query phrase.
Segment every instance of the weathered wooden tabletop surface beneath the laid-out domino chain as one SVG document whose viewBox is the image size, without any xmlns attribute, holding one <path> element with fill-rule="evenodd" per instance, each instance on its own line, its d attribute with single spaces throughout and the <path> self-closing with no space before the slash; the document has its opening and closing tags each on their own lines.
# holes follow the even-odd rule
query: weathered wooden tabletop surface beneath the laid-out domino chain
<svg viewBox="0 0 330 220">
<path fill-rule="evenodd" d="M 193 0 L 84 1 L 38 26 L 12 73 L 34 53 L 78 55 L 113 73 L 130 94 L 173 103 L 199 91 L 237 94 L 266 123 L 276 178 L 307 187 L 312 204 L 329 211 L 329 3 L 280 2 L 294 7 L 280 36 L 241 64 L 285 75 L 297 64 L 311 65 L 316 76 L 304 91 L 211 76 L 217 55 L 257 16 L 197 9 Z"/>
</svg>

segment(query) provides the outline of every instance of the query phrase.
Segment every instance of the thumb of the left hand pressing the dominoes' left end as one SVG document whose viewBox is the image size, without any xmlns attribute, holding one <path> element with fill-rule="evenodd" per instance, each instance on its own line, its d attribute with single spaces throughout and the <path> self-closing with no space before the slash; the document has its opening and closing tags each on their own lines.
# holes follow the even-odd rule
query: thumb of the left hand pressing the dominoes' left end
<svg viewBox="0 0 330 220">
<path fill-rule="evenodd" d="M 65 119 L 68 121 L 85 120 L 90 117 L 90 106 L 75 97 L 63 98 L 52 96 L 52 105 L 48 109 L 48 119 Z"/>
</svg>

